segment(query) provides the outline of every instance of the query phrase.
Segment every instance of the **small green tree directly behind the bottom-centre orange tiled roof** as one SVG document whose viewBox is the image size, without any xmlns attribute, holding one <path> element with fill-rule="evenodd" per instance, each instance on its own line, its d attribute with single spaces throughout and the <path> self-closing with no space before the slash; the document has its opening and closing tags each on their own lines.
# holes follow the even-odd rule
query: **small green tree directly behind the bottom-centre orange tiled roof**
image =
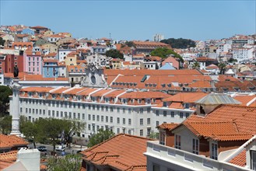
<svg viewBox="0 0 256 171">
<path fill-rule="evenodd" d="M 93 147 L 93 145 L 98 145 L 100 142 L 103 142 L 111 137 L 114 136 L 114 132 L 110 131 L 109 129 L 103 130 L 99 129 L 97 134 L 93 134 L 91 138 L 89 138 L 88 147 Z"/>
</svg>

